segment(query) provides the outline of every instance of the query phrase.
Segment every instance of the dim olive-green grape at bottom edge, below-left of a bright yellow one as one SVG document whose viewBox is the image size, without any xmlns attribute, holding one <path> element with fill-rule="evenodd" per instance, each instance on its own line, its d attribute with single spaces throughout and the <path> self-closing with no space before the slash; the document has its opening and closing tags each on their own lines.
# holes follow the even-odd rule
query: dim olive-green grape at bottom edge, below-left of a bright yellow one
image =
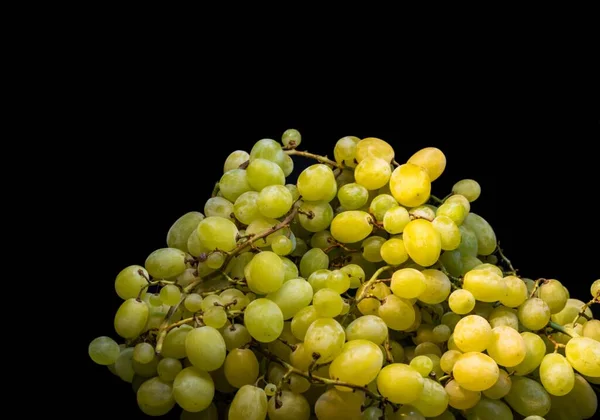
<svg viewBox="0 0 600 420">
<path fill-rule="evenodd" d="M 513 376 L 504 401 L 522 416 L 545 416 L 550 411 L 550 395 L 542 384 L 524 376 Z"/>
</svg>

